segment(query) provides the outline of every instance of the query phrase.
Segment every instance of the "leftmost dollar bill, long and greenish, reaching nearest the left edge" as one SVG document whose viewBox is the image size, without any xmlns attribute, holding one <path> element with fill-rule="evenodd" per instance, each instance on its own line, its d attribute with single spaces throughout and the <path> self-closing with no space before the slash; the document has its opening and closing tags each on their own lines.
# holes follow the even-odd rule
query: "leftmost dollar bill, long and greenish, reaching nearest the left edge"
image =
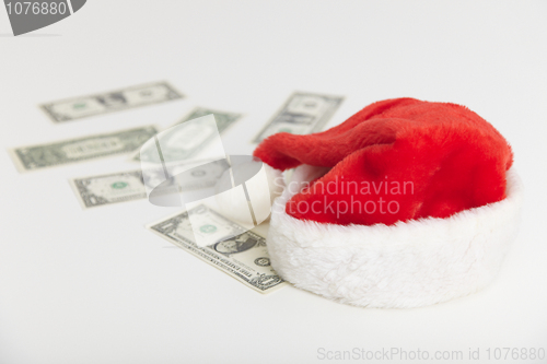
<svg viewBox="0 0 547 364">
<path fill-rule="evenodd" d="M 158 132 L 153 126 L 10 150 L 20 172 L 130 153 Z"/>
</svg>

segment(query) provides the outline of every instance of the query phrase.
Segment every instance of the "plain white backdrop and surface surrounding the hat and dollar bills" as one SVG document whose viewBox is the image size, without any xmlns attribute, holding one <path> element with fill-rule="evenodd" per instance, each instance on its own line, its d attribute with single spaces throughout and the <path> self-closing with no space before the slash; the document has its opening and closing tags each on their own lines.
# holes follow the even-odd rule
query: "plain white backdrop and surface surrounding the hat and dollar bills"
<svg viewBox="0 0 547 364">
<path fill-rule="evenodd" d="M 0 33 L 0 363 L 325 362 L 319 348 L 479 348 L 485 362 L 488 348 L 547 349 L 546 1 L 91 0 L 20 37 L 1 8 Z M 159 80 L 187 98 L 62 125 L 37 107 Z M 411 96 L 466 105 L 500 130 L 527 201 L 497 280 L 416 309 L 292 286 L 260 295 L 143 227 L 171 209 L 81 210 L 68 178 L 135 168 L 126 156 L 20 174 L 5 152 L 168 126 L 200 105 L 244 113 L 224 142 L 251 153 L 295 90 L 346 96 L 329 126 Z"/>
</svg>

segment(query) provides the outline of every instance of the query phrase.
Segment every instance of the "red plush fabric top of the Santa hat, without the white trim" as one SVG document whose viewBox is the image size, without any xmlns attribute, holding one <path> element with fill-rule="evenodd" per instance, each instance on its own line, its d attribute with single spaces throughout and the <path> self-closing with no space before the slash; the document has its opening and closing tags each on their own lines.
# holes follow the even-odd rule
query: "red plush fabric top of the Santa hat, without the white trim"
<svg viewBox="0 0 547 364">
<path fill-rule="evenodd" d="M 342 225 L 446 218 L 500 201 L 512 164 L 505 139 L 477 114 L 414 98 L 371 104 L 324 132 L 274 134 L 254 155 L 282 171 L 331 167 L 286 212 Z"/>
</svg>

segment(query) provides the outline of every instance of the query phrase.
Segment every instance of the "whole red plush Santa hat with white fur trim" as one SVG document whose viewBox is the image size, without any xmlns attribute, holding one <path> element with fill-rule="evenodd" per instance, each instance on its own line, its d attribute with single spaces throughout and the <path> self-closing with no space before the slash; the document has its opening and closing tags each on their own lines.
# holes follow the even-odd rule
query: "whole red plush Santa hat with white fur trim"
<svg viewBox="0 0 547 364">
<path fill-rule="evenodd" d="M 272 207 L 274 269 L 331 300 L 415 307 L 467 295 L 516 235 L 511 148 L 464 106 L 377 102 L 324 132 L 274 134 L 254 155 L 295 168 Z"/>
</svg>

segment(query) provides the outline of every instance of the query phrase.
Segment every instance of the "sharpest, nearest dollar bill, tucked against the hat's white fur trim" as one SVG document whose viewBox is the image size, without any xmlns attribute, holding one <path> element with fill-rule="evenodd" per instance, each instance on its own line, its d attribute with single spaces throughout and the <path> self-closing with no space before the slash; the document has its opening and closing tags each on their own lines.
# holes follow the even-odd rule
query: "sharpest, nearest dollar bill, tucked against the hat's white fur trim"
<svg viewBox="0 0 547 364">
<path fill-rule="evenodd" d="M 147 227 L 253 290 L 267 293 L 287 284 L 270 266 L 266 238 L 205 204 Z M 198 246 L 194 234 L 211 244 Z"/>
</svg>

